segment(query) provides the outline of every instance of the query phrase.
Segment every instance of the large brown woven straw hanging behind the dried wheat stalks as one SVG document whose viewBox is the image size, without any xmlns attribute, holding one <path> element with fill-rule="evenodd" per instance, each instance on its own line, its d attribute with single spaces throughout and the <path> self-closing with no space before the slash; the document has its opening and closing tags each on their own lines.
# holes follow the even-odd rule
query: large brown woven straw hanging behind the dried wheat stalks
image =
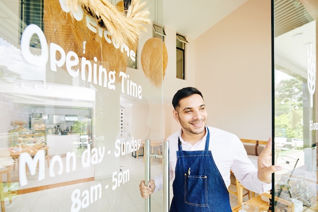
<svg viewBox="0 0 318 212">
<path fill-rule="evenodd" d="M 118 14 L 122 15 L 125 11 L 122 7 L 116 6 L 111 8 L 117 10 Z M 97 58 L 97 62 L 94 62 L 102 65 L 107 71 L 116 71 L 116 80 L 120 81 L 119 72 L 125 72 L 127 67 L 128 56 L 126 52 L 116 49 L 113 43 L 108 43 L 99 33 L 94 33 L 88 29 L 85 18 L 77 21 L 72 17 L 72 13 L 64 12 L 58 0 L 45 0 L 44 10 L 44 32 L 49 43 L 61 46 L 65 52 L 74 51 L 79 57 L 85 57 L 87 60 L 92 61 L 94 58 L 95 60 Z M 85 11 L 90 11 L 91 14 L 88 15 L 94 15 L 92 10 L 86 6 Z M 112 22 L 113 20 L 114 17 L 109 21 Z M 103 20 L 99 19 L 99 23 L 102 23 L 102 26 L 105 27 Z M 121 25 L 118 27 L 120 28 Z M 121 28 L 120 30 L 123 31 L 124 29 Z M 125 35 L 125 33 L 122 32 L 121 35 Z M 114 39 L 115 36 L 112 37 Z M 109 38 L 111 39 L 111 37 Z M 125 44 L 136 52 L 137 45 L 135 39 L 125 39 Z M 59 59 L 59 56 L 57 55 L 57 59 Z M 65 65 L 63 68 L 65 68 Z M 73 68 L 78 69 L 80 65 Z"/>
</svg>

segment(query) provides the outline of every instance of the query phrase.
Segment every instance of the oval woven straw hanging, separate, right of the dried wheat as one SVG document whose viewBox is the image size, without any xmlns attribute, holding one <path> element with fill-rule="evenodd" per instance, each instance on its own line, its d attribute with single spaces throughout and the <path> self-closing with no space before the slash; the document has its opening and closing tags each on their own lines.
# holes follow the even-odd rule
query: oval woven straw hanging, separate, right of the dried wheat
<svg viewBox="0 0 318 212">
<path fill-rule="evenodd" d="M 141 52 L 141 66 L 150 82 L 159 87 L 164 80 L 168 63 L 168 52 L 165 43 L 160 38 L 150 38 Z"/>
</svg>

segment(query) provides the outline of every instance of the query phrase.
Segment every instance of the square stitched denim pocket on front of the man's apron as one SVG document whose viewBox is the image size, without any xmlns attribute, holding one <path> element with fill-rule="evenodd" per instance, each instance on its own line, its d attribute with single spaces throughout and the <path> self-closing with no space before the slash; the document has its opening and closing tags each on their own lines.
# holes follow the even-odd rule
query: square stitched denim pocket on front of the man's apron
<svg viewBox="0 0 318 212">
<path fill-rule="evenodd" d="M 184 202 L 189 205 L 208 206 L 208 178 L 205 175 L 184 174 Z"/>
</svg>

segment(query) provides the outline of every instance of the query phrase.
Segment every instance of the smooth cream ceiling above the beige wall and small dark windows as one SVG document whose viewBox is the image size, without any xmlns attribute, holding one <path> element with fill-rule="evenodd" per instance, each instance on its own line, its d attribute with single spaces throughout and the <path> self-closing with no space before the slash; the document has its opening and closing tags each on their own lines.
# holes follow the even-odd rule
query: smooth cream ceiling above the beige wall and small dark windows
<svg viewBox="0 0 318 212">
<path fill-rule="evenodd" d="M 163 0 L 163 25 L 196 39 L 247 0 Z"/>
</svg>

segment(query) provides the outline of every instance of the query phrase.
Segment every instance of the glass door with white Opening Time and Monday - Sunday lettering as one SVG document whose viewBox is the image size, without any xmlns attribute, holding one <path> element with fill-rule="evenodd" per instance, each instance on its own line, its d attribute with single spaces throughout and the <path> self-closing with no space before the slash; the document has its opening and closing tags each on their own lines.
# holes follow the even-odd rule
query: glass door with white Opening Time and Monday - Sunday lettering
<svg viewBox="0 0 318 212">
<path fill-rule="evenodd" d="M 133 24 L 127 1 L 68 2 L 0 3 L 2 211 L 142 211 L 143 143 L 165 137 L 162 51 L 155 70 L 142 55 L 162 2 Z"/>
</svg>

